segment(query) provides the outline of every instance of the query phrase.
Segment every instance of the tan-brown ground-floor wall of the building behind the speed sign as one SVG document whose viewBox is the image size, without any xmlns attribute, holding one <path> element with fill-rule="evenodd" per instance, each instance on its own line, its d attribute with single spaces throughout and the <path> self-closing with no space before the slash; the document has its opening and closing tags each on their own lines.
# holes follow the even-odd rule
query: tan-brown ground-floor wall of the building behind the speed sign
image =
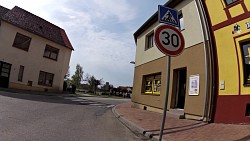
<svg viewBox="0 0 250 141">
<path fill-rule="evenodd" d="M 168 98 L 168 109 L 173 108 L 171 105 L 174 102 L 172 96 L 174 95 L 173 87 L 173 71 L 175 69 L 187 69 L 186 78 L 186 96 L 184 112 L 186 114 L 202 116 L 204 109 L 205 96 L 205 64 L 204 64 L 204 50 L 203 44 L 198 44 L 190 48 L 186 48 L 182 55 L 171 58 L 171 72 L 170 72 L 170 89 Z M 154 108 L 163 109 L 164 100 L 166 96 L 166 73 L 167 73 L 167 57 L 162 57 L 157 60 L 145 63 L 135 67 L 134 87 L 132 101 Z M 148 74 L 161 73 L 161 93 L 160 95 L 146 95 L 142 91 L 143 76 Z M 200 91 L 198 96 L 189 95 L 189 77 L 191 75 L 200 76 Z M 140 108 L 140 106 L 138 106 Z M 157 111 L 157 110 L 156 110 Z"/>
</svg>

